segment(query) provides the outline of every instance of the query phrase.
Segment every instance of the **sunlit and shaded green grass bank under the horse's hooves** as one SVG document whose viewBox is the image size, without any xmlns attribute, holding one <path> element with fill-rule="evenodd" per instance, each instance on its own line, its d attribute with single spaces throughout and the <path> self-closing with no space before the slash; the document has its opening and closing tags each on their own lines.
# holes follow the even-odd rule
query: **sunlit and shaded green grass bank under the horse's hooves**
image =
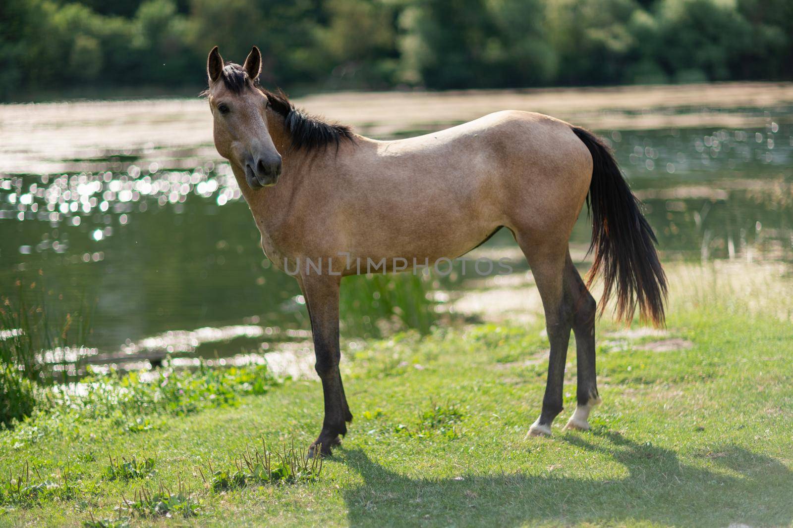
<svg viewBox="0 0 793 528">
<path fill-rule="evenodd" d="M 657 337 L 615 346 L 619 328 L 601 322 L 603 405 L 592 431 L 561 431 L 575 405 L 571 344 L 554 436 L 524 438 L 545 385 L 540 326 L 401 333 L 348 352 L 355 420 L 316 478 L 213 489 L 206 474 L 209 464 L 247 470 L 235 461 L 262 438 L 276 450 L 311 442 L 322 420 L 313 380 L 160 414 L 159 427 L 136 433 L 110 418 L 56 426 L 50 413 L 0 431 L 0 479 L 35 465 L 68 492 L 0 500 L 0 524 L 77 526 L 93 516 L 108 520 L 94 526 L 791 526 L 790 312 L 764 306 L 758 289 L 743 297 L 722 272 L 711 282 L 699 273 L 672 274 L 670 337 L 691 348 L 639 348 Z M 788 284 L 774 276 L 760 281 L 771 300 Z M 108 454 L 153 458 L 155 471 L 107 479 Z M 142 489 L 149 499 L 178 490 L 190 515 L 137 515 L 129 503 Z M 151 506 L 143 501 L 141 511 Z"/>
</svg>

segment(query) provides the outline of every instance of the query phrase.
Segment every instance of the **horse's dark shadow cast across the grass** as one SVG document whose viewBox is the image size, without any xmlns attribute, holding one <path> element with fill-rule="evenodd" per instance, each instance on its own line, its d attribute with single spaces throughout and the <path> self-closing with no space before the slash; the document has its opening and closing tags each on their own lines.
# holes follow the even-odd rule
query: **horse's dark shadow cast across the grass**
<svg viewBox="0 0 793 528">
<path fill-rule="evenodd" d="M 680 526 L 788 526 L 793 521 L 793 472 L 774 458 L 723 446 L 718 470 L 681 462 L 667 449 L 611 433 L 565 435 L 581 450 L 607 454 L 626 477 L 555 477 L 522 473 L 459 479 L 404 477 L 348 450 L 344 462 L 364 483 L 345 493 L 351 526 L 523 526 L 572 522 L 639 522 Z M 339 450 L 340 452 L 343 450 Z"/>
</svg>

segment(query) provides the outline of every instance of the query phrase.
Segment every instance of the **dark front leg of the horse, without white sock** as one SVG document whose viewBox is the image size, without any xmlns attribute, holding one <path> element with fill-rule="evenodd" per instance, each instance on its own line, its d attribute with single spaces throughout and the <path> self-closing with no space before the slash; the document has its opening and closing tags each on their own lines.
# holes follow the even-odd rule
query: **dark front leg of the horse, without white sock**
<svg viewBox="0 0 793 528">
<path fill-rule="evenodd" d="M 322 431 L 311 445 L 312 455 L 320 444 L 323 455 L 331 454 L 331 447 L 341 442 L 339 435 L 347 434 L 346 423 L 352 421 L 339 372 L 339 279 L 333 275 L 304 275 L 300 280 L 311 318 L 316 374 L 322 381 L 325 400 Z"/>
</svg>

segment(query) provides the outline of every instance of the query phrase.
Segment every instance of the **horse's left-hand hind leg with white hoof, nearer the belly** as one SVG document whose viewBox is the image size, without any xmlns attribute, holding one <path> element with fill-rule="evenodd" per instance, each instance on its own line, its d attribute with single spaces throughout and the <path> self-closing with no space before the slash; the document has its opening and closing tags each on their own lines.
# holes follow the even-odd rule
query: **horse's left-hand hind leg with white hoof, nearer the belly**
<svg viewBox="0 0 793 528">
<path fill-rule="evenodd" d="M 518 237 L 518 243 L 529 261 L 546 315 L 550 341 L 548 379 L 542 398 L 540 417 L 529 428 L 528 435 L 550 435 L 550 426 L 561 412 L 561 389 L 565 381 L 565 361 L 573 325 L 573 298 L 565 280 L 565 263 L 569 259 L 567 242 L 563 244 L 531 244 Z"/>
</svg>

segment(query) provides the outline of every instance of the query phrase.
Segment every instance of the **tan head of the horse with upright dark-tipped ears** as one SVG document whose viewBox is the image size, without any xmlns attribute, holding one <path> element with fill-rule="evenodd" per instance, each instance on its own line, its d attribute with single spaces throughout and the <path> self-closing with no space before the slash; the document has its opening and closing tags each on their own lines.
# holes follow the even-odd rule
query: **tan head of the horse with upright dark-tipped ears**
<svg viewBox="0 0 793 528">
<path fill-rule="evenodd" d="M 206 69 L 215 148 L 245 173 L 251 188 L 274 185 L 281 174 L 281 155 L 267 129 L 267 97 L 254 84 L 262 70 L 259 48 L 254 46 L 239 66 L 224 64 L 213 47 Z"/>
</svg>

